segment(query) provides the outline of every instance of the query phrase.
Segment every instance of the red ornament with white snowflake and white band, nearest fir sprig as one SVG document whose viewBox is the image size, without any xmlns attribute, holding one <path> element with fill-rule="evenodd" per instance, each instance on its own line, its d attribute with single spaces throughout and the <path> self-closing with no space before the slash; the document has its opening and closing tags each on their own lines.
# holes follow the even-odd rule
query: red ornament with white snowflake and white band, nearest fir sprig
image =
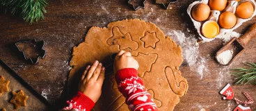
<svg viewBox="0 0 256 111">
<path fill-rule="evenodd" d="M 229 83 L 227 83 L 227 85 L 221 90 L 220 93 L 225 96 L 223 99 L 231 100 L 234 97 L 234 92 Z"/>
</svg>

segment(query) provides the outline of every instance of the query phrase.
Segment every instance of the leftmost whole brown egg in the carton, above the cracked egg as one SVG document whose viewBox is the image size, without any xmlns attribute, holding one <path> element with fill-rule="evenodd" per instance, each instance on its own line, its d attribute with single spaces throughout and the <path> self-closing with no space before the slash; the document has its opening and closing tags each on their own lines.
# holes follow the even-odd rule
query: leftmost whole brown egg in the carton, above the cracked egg
<svg viewBox="0 0 256 111">
<path fill-rule="evenodd" d="M 196 21 L 202 22 L 208 19 L 210 12 L 211 10 L 207 4 L 198 3 L 195 6 L 193 6 L 191 15 L 193 19 L 195 19 Z"/>
</svg>

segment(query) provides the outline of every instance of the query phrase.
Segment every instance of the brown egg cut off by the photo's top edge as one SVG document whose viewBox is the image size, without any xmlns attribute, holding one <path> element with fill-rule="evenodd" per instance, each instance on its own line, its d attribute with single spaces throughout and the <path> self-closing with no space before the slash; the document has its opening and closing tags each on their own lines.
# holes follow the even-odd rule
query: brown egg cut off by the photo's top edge
<svg viewBox="0 0 256 111">
<path fill-rule="evenodd" d="M 211 10 L 222 11 L 227 6 L 227 0 L 209 0 L 209 6 Z"/>
</svg>

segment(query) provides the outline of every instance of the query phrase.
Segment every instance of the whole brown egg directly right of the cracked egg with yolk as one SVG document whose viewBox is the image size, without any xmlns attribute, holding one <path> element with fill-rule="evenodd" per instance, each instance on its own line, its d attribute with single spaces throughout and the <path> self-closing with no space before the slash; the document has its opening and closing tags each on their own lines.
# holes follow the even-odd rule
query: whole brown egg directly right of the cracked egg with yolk
<svg viewBox="0 0 256 111">
<path fill-rule="evenodd" d="M 237 17 L 232 12 L 223 12 L 218 18 L 218 24 L 222 28 L 232 28 L 237 24 Z"/>
</svg>

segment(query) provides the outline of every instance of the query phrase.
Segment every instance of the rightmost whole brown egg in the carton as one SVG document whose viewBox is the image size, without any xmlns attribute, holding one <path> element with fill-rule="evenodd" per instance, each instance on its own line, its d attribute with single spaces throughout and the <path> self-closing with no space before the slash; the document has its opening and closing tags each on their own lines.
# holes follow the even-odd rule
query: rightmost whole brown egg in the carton
<svg viewBox="0 0 256 111">
<path fill-rule="evenodd" d="M 253 11 L 253 4 L 250 2 L 244 2 L 237 7 L 236 14 L 237 17 L 248 19 L 253 15 Z"/>
</svg>

